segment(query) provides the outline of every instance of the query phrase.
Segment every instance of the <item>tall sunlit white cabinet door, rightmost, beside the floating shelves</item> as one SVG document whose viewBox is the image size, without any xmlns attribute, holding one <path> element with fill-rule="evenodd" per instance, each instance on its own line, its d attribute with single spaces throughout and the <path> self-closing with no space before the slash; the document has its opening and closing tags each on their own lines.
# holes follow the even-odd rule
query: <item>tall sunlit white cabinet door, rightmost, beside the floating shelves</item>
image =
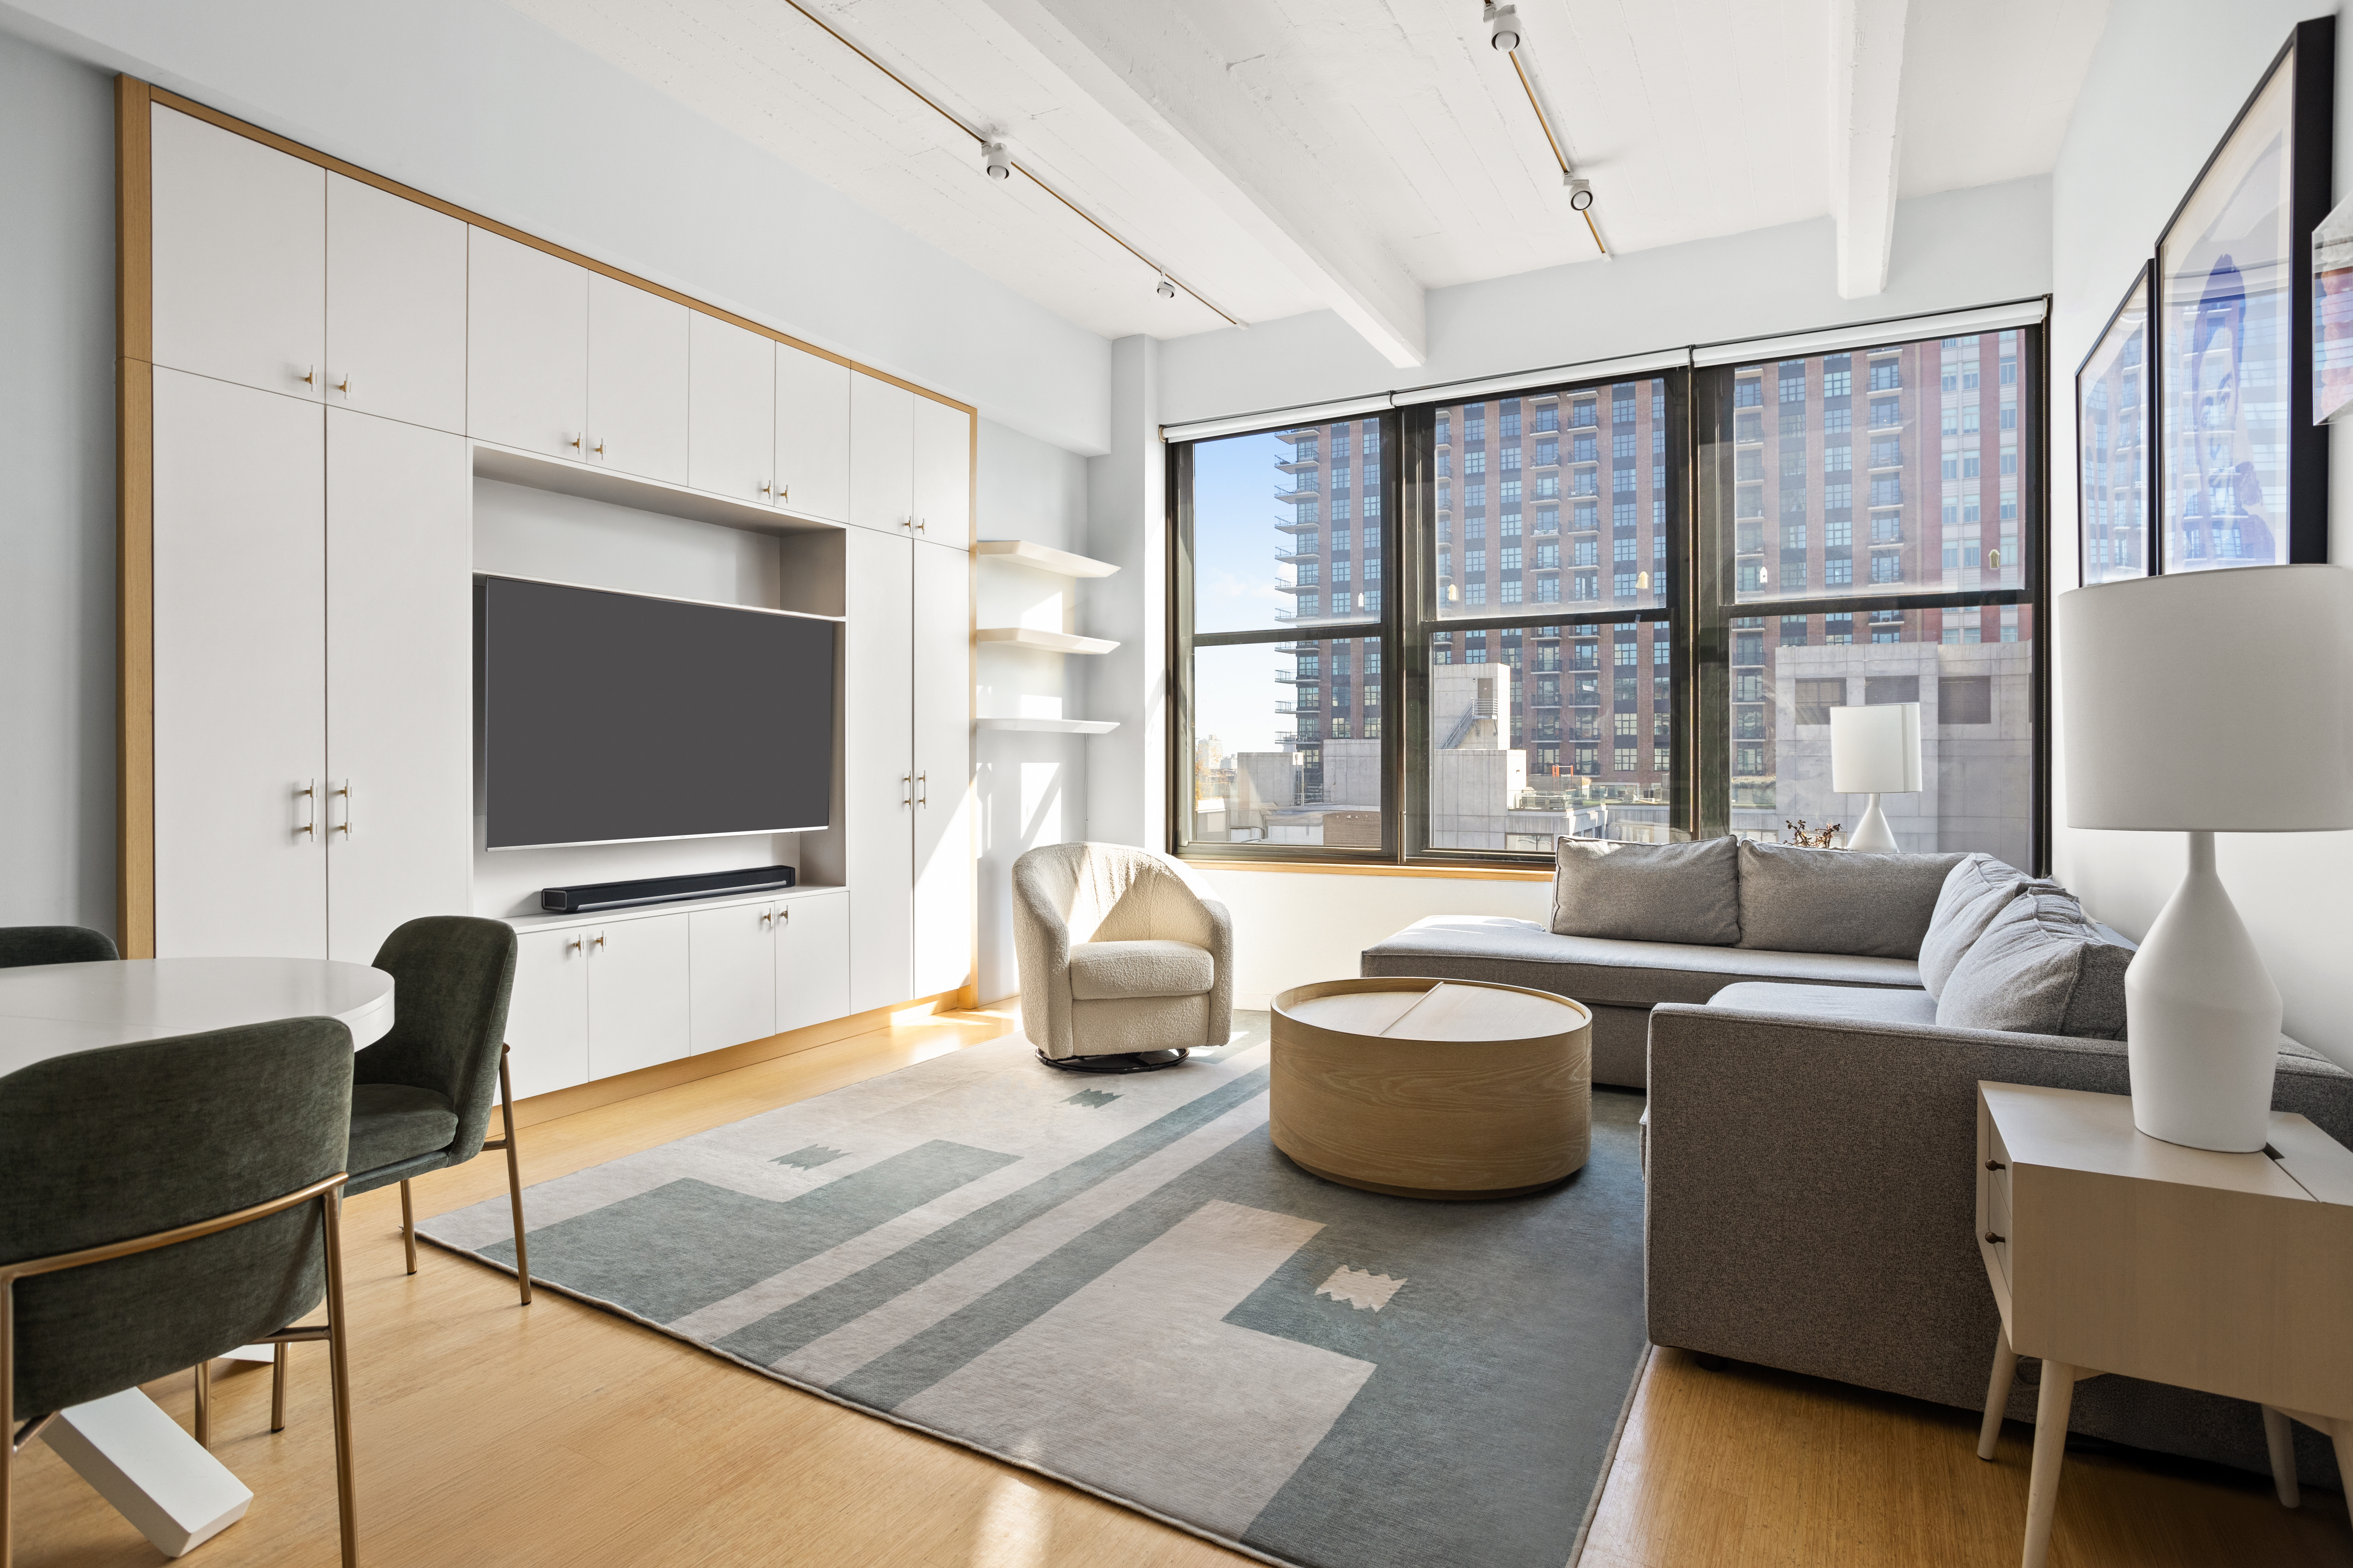
<svg viewBox="0 0 2353 1568">
<path fill-rule="evenodd" d="M 972 978 L 972 557 L 915 541 L 915 994 Z"/>
</svg>

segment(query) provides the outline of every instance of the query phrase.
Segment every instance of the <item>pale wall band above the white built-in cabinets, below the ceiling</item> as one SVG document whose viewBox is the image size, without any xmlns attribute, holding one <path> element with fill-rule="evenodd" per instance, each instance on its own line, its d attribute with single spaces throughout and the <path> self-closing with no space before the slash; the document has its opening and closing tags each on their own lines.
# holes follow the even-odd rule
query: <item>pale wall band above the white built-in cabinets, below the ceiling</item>
<svg viewBox="0 0 2353 1568">
<path fill-rule="evenodd" d="M 7 0 L 0 28 L 962 397 L 1016 430 L 1073 451 L 1106 444 L 1104 339 L 496 0 Z M 33 134 L 59 132 L 49 120 Z M 108 162 L 111 141 L 108 129 L 96 146 Z"/>
</svg>

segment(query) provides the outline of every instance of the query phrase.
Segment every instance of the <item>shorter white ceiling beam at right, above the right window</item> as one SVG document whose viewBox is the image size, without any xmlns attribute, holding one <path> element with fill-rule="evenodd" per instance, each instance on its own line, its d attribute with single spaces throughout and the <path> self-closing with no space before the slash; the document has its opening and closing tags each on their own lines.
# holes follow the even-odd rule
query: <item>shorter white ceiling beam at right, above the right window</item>
<svg viewBox="0 0 2353 1568">
<path fill-rule="evenodd" d="M 1908 0 L 1831 0 L 1831 214 L 1838 219 L 1840 299 L 1887 289 L 1908 9 Z"/>
</svg>

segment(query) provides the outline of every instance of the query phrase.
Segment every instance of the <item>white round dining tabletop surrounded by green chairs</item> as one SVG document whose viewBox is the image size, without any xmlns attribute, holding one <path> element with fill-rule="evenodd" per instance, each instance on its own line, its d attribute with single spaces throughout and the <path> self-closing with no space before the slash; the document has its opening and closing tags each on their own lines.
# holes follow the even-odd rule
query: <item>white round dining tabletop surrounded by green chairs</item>
<svg viewBox="0 0 2353 1568">
<path fill-rule="evenodd" d="M 0 1077 L 49 1056 L 271 1018 L 334 1018 L 353 1048 L 393 1027 L 393 978 L 332 959 L 113 959 L 0 969 Z"/>
</svg>

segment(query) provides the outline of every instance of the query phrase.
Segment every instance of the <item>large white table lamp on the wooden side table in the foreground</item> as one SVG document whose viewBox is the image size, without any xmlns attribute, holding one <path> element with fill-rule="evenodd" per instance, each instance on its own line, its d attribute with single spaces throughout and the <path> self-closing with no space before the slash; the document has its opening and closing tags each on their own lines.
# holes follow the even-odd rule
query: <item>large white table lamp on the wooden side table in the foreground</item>
<svg viewBox="0 0 2353 1568">
<path fill-rule="evenodd" d="M 2068 827 L 2191 835 L 2125 969 L 2132 1121 L 2264 1147 L 2280 992 L 2214 875 L 2217 832 L 2353 827 L 2353 571 L 2238 567 L 2059 597 Z M 2217 771 L 2240 741 L 2249 766 Z"/>
</svg>

